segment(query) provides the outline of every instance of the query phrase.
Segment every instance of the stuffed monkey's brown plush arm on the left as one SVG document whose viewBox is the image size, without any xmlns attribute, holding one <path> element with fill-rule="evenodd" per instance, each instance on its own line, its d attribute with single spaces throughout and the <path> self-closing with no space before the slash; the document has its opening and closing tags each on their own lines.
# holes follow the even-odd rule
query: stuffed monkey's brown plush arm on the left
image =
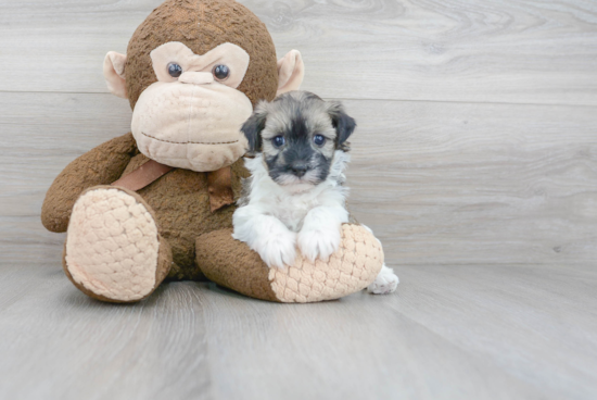
<svg viewBox="0 0 597 400">
<path fill-rule="evenodd" d="M 136 151 L 137 145 L 129 133 L 98 146 L 68 164 L 46 193 L 41 207 L 43 226 L 55 233 L 66 232 L 79 195 L 90 187 L 117 180 Z"/>
</svg>

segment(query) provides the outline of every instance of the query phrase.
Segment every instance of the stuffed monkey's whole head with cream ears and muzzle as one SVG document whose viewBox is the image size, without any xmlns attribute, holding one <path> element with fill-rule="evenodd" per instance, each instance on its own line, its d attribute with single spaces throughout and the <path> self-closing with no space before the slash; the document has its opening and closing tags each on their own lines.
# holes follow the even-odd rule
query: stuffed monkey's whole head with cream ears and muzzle
<svg viewBox="0 0 597 400">
<path fill-rule="evenodd" d="M 276 61 L 265 24 L 234 0 L 166 0 L 127 54 L 106 54 L 103 72 L 110 91 L 130 101 L 143 154 L 208 172 L 244 154 L 240 127 L 253 105 L 297 89 L 304 65 L 296 50 Z"/>
</svg>

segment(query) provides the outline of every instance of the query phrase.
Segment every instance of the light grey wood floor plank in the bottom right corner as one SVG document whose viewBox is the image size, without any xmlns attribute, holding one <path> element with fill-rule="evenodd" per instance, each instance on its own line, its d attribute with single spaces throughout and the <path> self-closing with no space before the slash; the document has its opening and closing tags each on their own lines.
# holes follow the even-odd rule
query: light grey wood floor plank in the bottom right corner
<svg viewBox="0 0 597 400">
<path fill-rule="evenodd" d="M 597 393 L 594 263 L 397 271 L 394 310 L 555 398 Z"/>
</svg>

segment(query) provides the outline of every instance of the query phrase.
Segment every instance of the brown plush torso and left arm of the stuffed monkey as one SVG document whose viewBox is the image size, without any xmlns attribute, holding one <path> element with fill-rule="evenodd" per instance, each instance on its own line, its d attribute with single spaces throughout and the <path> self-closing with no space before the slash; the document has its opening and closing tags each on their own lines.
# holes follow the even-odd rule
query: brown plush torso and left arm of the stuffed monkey
<svg viewBox="0 0 597 400">
<path fill-rule="evenodd" d="M 131 134 L 112 139 L 73 161 L 48 190 L 41 210 L 41 221 L 51 232 L 66 232 L 75 201 L 88 188 L 110 185 L 149 159 L 131 147 Z M 124 160 L 128 163 L 123 167 Z M 115 164 L 112 164 L 115 161 Z M 239 160 L 232 168 L 232 191 L 238 199 L 241 178 L 249 172 Z M 119 171 L 119 174 L 116 174 Z M 173 251 L 170 279 L 202 279 L 195 264 L 196 238 L 205 233 L 232 226 L 234 205 L 212 213 L 205 173 L 174 170 L 138 191 L 155 215 L 160 235 Z"/>
</svg>

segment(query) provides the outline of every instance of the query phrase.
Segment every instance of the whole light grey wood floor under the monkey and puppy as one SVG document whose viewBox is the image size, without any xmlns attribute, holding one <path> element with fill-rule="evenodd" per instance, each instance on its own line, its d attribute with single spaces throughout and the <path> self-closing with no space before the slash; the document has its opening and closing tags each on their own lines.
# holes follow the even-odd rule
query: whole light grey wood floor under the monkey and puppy
<svg viewBox="0 0 597 400">
<path fill-rule="evenodd" d="M 166 284 L 104 304 L 39 259 L 0 268 L 0 396 L 593 399 L 592 265 L 402 266 L 396 295 L 275 304 Z M 26 354 L 26 357 L 24 357 Z"/>
</svg>

